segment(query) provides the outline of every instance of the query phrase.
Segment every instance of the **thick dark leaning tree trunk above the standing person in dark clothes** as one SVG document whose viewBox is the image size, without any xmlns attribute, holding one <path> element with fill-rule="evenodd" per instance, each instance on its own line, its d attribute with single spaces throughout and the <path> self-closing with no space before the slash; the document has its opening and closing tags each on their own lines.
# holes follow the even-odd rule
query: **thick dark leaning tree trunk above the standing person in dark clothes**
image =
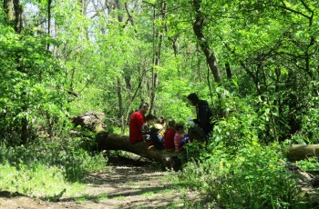
<svg viewBox="0 0 319 209">
<path fill-rule="evenodd" d="M 211 68 L 211 73 L 214 76 L 216 83 L 221 83 L 221 73 L 217 65 L 217 59 L 215 54 L 212 52 L 209 43 L 207 42 L 205 35 L 202 33 L 204 25 L 204 17 L 201 13 L 201 0 L 192 1 L 195 10 L 195 22 L 193 24 L 193 30 L 201 46 L 201 50 L 206 56 L 208 65 Z"/>
</svg>

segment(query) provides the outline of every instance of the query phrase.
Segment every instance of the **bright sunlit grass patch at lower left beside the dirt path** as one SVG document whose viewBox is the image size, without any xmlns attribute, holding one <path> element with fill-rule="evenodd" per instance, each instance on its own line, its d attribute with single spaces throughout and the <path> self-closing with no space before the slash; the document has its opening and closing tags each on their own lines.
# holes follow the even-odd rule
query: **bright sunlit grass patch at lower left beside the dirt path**
<svg viewBox="0 0 319 209">
<path fill-rule="evenodd" d="M 84 184 L 68 183 L 63 171 L 57 167 L 35 164 L 29 169 L 21 164 L 17 169 L 10 164 L 0 164 L 0 189 L 8 192 L 56 201 L 63 195 L 72 196 L 85 188 Z"/>
</svg>

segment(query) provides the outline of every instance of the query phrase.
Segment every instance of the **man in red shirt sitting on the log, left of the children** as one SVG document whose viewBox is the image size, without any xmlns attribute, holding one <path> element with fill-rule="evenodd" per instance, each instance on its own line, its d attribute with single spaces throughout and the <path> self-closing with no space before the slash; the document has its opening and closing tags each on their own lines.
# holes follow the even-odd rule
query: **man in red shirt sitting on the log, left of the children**
<svg viewBox="0 0 319 209">
<path fill-rule="evenodd" d="M 145 114 L 149 111 L 149 104 L 142 103 L 139 105 L 139 110 L 135 111 L 129 120 L 129 142 L 134 144 L 143 142 L 141 132 L 142 125 L 146 123 Z"/>
</svg>

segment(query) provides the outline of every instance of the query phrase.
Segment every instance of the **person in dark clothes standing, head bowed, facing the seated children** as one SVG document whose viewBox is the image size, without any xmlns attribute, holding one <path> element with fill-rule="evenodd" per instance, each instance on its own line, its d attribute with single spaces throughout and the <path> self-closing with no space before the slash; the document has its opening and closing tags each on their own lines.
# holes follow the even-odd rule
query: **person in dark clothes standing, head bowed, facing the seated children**
<svg viewBox="0 0 319 209">
<path fill-rule="evenodd" d="M 187 96 L 190 105 L 196 107 L 197 118 L 194 119 L 194 123 L 197 124 L 203 132 L 208 135 L 213 129 L 213 124 L 211 124 L 211 109 L 207 101 L 200 100 L 198 95 L 192 93 Z"/>
</svg>

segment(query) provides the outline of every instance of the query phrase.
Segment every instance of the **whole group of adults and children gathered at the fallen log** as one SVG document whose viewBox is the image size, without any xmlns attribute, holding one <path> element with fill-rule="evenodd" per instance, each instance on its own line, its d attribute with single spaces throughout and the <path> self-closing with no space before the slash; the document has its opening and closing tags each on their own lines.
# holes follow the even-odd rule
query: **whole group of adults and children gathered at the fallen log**
<svg viewBox="0 0 319 209">
<path fill-rule="evenodd" d="M 190 94 L 187 98 L 190 105 L 196 107 L 197 118 L 191 120 L 192 123 L 201 129 L 203 137 L 208 137 L 213 128 L 209 104 L 200 100 L 196 94 Z M 173 119 L 166 123 L 164 117 L 147 114 L 148 111 L 149 104 L 142 103 L 139 105 L 139 110 L 131 115 L 129 120 L 130 143 L 145 142 L 149 146 L 154 145 L 157 149 L 180 152 L 183 144 L 190 142 L 190 136 L 185 134 L 183 124 L 176 124 Z"/>
</svg>

